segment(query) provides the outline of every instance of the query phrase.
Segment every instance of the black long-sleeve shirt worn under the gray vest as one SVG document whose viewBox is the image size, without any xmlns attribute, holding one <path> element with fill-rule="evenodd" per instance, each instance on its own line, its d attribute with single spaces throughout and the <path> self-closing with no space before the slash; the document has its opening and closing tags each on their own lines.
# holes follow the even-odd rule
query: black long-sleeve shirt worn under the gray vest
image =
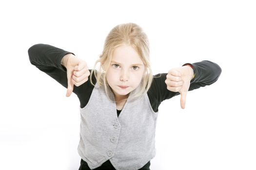
<svg viewBox="0 0 256 170">
<path fill-rule="evenodd" d="M 53 79 L 59 82 L 59 84 L 66 88 L 68 86 L 66 73 L 67 70 L 60 63 L 64 55 L 68 53 L 72 52 L 64 51 L 47 44 L 36 44 L 30 47 L 28 50 L 31 64 L 51 76 Z M 205 60 L 193 64 L 186 64 L 192 66 L 195 74 L 195 77 L 191 80 L 189 91 L 215 83 L 221 73 L 221 68 L 216 63 L 211 61 Z M 91 72 L 91 69 L 89 69 L 89 71 Z M 167 73 L 159 73 L 154 75 L 152 85 L 147 91 L 149 101 L 155 112 L 158 112 L 158 106 L 162 101 L 170 99 L 179 94 L 179 92 L 172 92 L 167 89 L 165 84 L 166 75 Z M 90 74 L 90 76 L 93 76 L 92 80 L 95 84 L 96 78 L 94 77 L 94 74 Z M 74 85 L 73 92 L 78 96 L 81 108 L 83 108 L 88 103 L 93 88 L 94 86 L 90 83 L 90 77 L 84 84 L 80 86 Z M 117 110 L 118 116 L 120 112 L 120 110 Z"/>
</svg>

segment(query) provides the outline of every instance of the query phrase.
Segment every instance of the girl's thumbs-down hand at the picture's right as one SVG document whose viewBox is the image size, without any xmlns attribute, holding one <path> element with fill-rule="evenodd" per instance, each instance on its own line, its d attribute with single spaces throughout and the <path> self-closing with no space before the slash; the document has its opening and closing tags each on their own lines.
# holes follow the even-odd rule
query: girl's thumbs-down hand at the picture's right
<svg viewBox="0 0 256 170">
<path fill-rule="evenodd" d="M 190 66 L 170 69 L 166 75 L 165 84 L 167 89 L 180 93 L 180 106 L 182 109 L 185 108 L 186 96 L 193 76 L 194 71 Z"/>
</svg>

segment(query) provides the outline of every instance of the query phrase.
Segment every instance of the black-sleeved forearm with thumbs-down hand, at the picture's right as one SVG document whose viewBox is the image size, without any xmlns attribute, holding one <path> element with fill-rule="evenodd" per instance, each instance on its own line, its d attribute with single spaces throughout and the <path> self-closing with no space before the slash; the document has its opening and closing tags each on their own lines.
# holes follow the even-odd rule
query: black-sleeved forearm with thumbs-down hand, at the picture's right
<svg viewBox="0 0 256 170">
<path fill-rule="evenodd" d="M 170 69 L 166 75 L 165 84 L 169 91 L 175 92 L 174 95 L 181 95 L 180 106 L 184 109 L 187 92 L 215 83 L 220 73 L 221 68 L 211 61 L 186 63 L 180 68 Z"/>
</svg>

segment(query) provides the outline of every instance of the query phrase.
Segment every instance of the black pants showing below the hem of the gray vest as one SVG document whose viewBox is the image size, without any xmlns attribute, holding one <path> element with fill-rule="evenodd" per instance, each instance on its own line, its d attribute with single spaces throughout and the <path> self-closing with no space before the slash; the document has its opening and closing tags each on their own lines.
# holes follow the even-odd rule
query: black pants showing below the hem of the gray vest
<svg viewBox="0 0 256 170">
<path fill-rule="evenodd" d="M 139 170 L 150 170 L 149 167 L 150 167 L 150 161 Z M 91 170 L 91 169 L 89 168 L 87 162 L 81 159 L 79 170 Z M 116 169 L 113 167 L 111 162 L 107 160 L 100 167 L 94 170 L 116 170 Z"/>
</svg>

